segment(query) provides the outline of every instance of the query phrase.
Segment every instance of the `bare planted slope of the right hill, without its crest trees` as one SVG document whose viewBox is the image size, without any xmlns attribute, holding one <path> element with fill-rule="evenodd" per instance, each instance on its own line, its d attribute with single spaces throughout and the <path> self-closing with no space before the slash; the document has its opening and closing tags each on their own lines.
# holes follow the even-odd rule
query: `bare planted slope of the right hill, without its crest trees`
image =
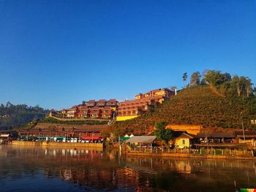
<svg viewBox="0 0 256 192">
<path fill-rule="evenodd" d="M 139 118 L 116 123 L 113 131 L 145 131 L 159 120 L 169 124 L 200 125 L 204 128 L 241 128 L 241 115 L 244 128 L 256 128 L 250 122 L 256 119 L 255 96 L 244 99 L 227 97 L 208 85 L 198 85 L 179 91 L 177 96 Z"/>
</svg>

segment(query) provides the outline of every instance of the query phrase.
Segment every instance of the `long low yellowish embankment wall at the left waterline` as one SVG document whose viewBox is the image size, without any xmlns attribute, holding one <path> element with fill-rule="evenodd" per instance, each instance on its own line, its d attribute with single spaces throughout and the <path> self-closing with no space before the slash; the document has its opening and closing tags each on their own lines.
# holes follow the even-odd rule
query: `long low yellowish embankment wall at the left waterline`
<svg viewBox="0 0 256 192">
<path fill-rule="evenodd" d="M 82 143 L 82 142 L 28 142 L 12 141 L 9 145 L 28 145 L 28 146 L 56 146 L 56 147 L 94 147 L 103 149 L 103 143 Z"/>
</svg>

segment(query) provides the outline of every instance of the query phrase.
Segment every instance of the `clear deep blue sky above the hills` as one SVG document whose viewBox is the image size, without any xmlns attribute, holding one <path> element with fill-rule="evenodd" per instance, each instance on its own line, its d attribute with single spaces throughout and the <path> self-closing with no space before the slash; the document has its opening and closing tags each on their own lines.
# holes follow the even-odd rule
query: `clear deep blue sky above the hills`
<svg viewBox="0 0 256 192">
<path fill-rule="evenodd" d="M 256 83 L 256 1 L 0 0 L 0 103 L 132 99 L 205 69 Z"/>
</svg>

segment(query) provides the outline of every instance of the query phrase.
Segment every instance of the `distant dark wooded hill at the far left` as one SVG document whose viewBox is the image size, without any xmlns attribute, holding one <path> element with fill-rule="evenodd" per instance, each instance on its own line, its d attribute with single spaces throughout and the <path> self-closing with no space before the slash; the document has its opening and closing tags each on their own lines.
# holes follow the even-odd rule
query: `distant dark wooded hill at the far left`
<svg viewBox="0 0 256 192">
<path fill-rule="evenodd" d="M 6 105 L 0 106 L 0 130 L 19 128 L 27 123 L 45 118 L 48 110 L 44 110 L 39 106 L 29 107 L 26 104 L 14 105 L 7 102 Z"/>
</svg>

